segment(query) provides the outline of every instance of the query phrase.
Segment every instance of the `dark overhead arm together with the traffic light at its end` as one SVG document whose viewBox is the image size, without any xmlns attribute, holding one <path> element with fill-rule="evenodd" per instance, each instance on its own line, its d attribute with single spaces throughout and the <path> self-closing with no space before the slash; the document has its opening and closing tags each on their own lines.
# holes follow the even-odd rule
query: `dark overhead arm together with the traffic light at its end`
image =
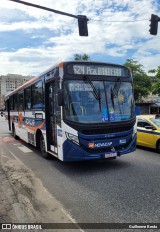
<svg viewBox="0 0 160 232">
<path fill-rule="evenodd" d="M 61 15 L 66 15 L 66 16 L 69 16 L 69 17 L 72 17 L 72 18 L 77 18 L 78 19 L 78 27 L 79 27 L 79 35 L 80 36 L 88 36 L 87 22 L 89 21 L 89 19 L 85 15 L 68 14 L 68 13 L 63 12 L 63 11 L 54 10 L 54 9 L 51 9 L 51 8 L 48 8 L 48 7 L 32 4 L 32 3 L 21 1 L 21 0 L 9 0 L 9 1 L 24 4 L 24 5 L 27 5 L 27 6 L 36 7 L 36 8 L 42 9 L 42 10 L 46 10 L 46 11 L 51 11 L 51 12 L 54 12 L 56 14 L 61 14 Z"/>
</svg>

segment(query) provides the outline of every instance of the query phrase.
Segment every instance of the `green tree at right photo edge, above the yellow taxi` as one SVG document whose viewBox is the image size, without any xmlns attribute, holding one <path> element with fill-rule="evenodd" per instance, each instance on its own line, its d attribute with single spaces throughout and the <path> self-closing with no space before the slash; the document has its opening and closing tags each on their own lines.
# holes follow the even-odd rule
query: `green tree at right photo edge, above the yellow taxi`
<svg viewBox="0 0 160 232">
<path fill-rule="evenodd" d="M 158 66 L 157 69 L 152 69 L 148 72 L 155 74 L 155 82 L 152 84 L 152 93 L 160 96 L 160 66 Z"/>
</svg>

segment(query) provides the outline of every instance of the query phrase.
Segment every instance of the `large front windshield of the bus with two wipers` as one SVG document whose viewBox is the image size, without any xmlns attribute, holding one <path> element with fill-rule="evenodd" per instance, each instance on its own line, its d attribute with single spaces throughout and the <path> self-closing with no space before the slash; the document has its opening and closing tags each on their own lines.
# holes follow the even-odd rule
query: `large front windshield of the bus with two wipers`
<svg viewBox="0 0 160 232">
<path fill-rule="evenodd" d="M 127 120 L 134 115 L 132 83 L 122 80 L 64 82 L 64 119 L 79 123 Z"/>
</svg>

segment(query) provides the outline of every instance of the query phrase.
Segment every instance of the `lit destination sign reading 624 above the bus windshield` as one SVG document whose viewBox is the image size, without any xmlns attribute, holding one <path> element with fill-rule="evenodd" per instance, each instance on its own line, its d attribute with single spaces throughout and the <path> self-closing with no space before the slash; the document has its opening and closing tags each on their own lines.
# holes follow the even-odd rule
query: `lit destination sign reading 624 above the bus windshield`
<svg viewBox="0 0 160 232">
<path fill-rule="evenodd" d="M 101 65 L 83 65 L 72 64 L 68 65 L 68 73 L 75 75 L 92 75 L 92 76 L 128 76 L 127 69 L 114 66 L 101 66 Z M 127 75 L 128 74 L 128 75 Z"/>
</svg>

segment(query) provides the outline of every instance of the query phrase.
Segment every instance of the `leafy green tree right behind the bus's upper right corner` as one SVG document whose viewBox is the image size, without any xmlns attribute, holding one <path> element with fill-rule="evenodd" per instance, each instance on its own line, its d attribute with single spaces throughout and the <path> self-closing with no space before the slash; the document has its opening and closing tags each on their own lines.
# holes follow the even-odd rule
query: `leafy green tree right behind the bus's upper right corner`
<svg viewBox="0 0 160 232">
<path fill-rule="evenodd" d="M 135 101 L 137 102 L 142 97 L 147 97 L 151 92 L 151 80 L 144 72 L 143 65 L 133 59 L 127 59 L 124 65 L 132 72 Z"/>
</svg>

